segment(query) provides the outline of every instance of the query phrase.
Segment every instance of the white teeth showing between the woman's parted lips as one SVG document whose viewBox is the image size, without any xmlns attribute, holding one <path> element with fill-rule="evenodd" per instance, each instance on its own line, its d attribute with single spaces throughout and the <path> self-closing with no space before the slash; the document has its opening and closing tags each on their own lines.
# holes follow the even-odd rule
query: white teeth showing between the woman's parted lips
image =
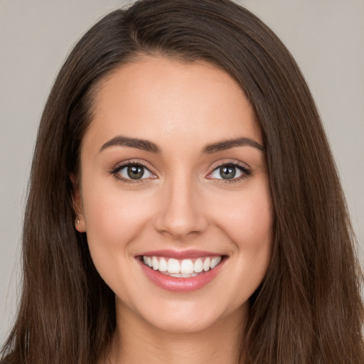
<svg viewBox="0 0 364 364">
<path fill-rule="evenodd" d="M 225 256 L 174 259 L 143 255 L 140 257 L 147 267 L 169 277 L 189 278 L 214 269 Z"/>
</svg>

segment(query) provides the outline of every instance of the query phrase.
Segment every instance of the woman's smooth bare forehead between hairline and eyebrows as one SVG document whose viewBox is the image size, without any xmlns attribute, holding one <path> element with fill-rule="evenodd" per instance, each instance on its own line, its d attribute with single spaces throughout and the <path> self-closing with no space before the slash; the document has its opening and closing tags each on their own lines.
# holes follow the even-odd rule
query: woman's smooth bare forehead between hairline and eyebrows
<svg viewBox="0 0 364 364">
<path fill-rule="evenodd" d="M 102 144 L 117 134 L 162 146 L 176 139 L 187 147 L 235 137 L 262 143 L 250 102 L 228 73 L 207 62 L 162 57 L 122 65 L 97 87 L 85 141 Z"/>
</svg>

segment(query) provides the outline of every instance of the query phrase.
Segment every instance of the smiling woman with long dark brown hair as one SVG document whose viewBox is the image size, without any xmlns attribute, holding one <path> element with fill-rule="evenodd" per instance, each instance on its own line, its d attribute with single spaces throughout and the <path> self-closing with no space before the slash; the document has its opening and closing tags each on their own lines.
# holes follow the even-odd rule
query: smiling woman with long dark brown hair
<svg viewBox="0 0 364 364">
<path fill-rule="evenodd" d="M 361 273 L 314 101 L 227 0 L 144 0 L 41 120 L 6 363 L 363 363 Z"/>
</svg>

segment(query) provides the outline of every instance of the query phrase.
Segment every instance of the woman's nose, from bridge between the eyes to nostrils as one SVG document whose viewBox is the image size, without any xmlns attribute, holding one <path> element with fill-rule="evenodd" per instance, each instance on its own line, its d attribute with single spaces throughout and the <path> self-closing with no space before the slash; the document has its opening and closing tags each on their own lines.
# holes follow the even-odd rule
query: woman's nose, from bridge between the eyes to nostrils
<svg viewBox="0 0 364 364">
<path fill-rule="evenodd" d="M 205 231 L 208 216 L 196 181 L 177 180 L 165 183 L 162 188 L 154 227 L 175 240 L 185 240 Z"/>
</svg>

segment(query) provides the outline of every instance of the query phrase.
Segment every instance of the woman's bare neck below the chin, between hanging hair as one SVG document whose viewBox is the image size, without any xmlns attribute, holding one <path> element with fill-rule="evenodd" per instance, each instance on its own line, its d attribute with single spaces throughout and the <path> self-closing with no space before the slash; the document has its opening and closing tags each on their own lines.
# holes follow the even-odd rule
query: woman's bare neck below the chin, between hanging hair
<svg viewBox="0 0 364 364">
<path fill-rule="evenodd" d="M 238 364 L 247 309 L 225 316 L 202 331 L 170 332 L 151 326 L 132 312 L 117 313 L 114 364 Z"/>
</svg>

